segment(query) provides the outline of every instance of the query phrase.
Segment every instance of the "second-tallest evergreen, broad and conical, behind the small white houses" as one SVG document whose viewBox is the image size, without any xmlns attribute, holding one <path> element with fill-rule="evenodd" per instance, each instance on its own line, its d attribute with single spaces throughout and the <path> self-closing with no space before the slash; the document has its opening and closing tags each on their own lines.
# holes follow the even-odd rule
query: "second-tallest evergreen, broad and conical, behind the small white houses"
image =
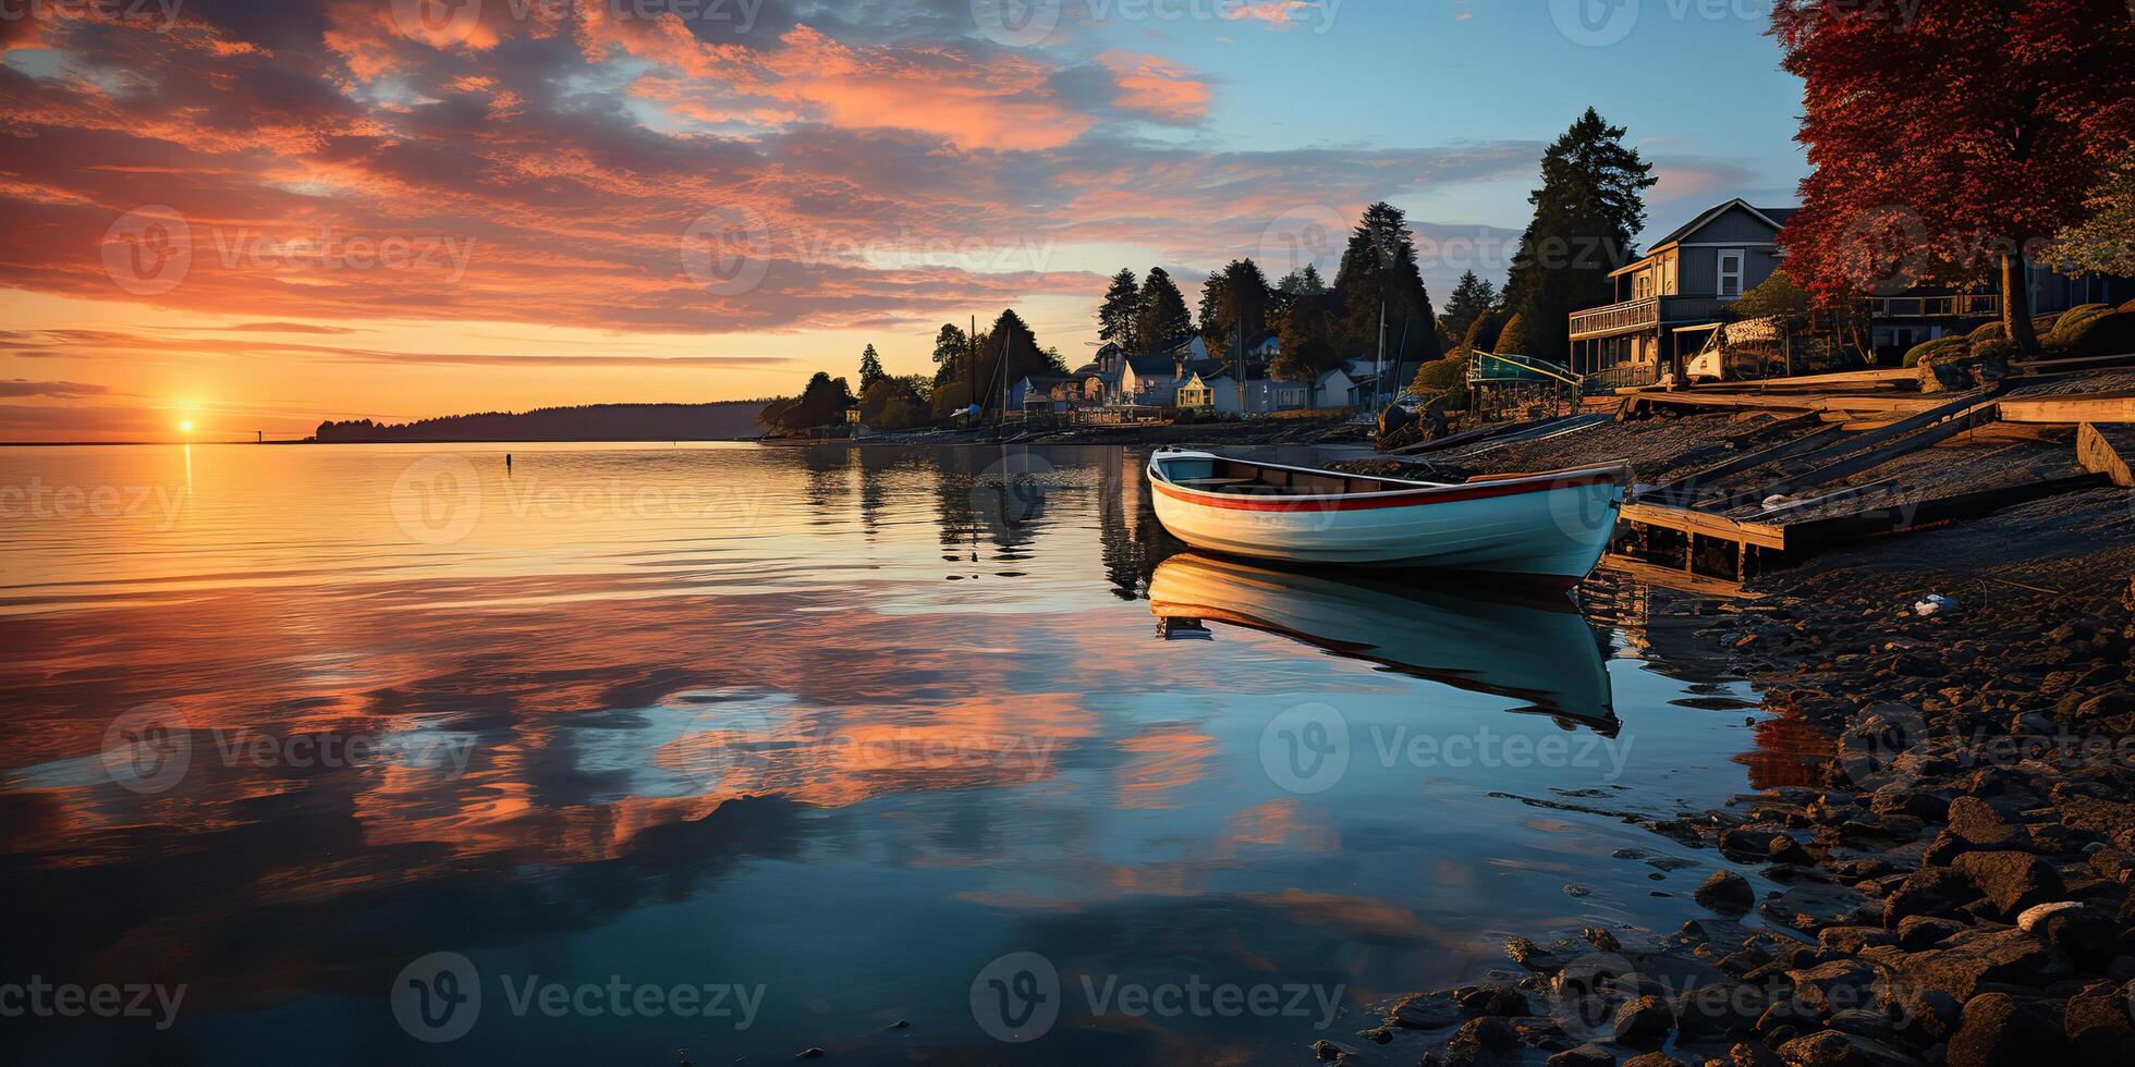
<svg viewBox="0 0 2135 1067">
<path fill-rule="evenodd" d="M 1416 262 L 1416 239 L 1409 220 L 1390 203 L 1375 203 L 1349 230 L 1349 248 L 1334 275 L 1341 294 L 1337 341 L 1351 354 L 1379 350 L 1379 316 L 1386 316 L 1386 356 L 1390 363 L 1437 359 L 1439 324 L 1430 309 L 1430 292 Z"/>
</svg>

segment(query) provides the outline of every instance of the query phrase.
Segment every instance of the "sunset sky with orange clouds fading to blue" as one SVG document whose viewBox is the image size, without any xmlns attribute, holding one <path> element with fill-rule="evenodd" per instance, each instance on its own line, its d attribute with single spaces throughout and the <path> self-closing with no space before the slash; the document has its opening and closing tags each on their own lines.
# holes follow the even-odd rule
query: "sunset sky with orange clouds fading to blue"
<svg viewBox="0 0 2135 1067">
<path fill-rule="evenodd" d="M 1377 198 L 1443 303 L 1588 105 L 1648 233 L 1793 203 L 1768 4 L 1584 2 L 0 0 L 0 440 L 762 397 L 1001 307 L 1080 363 L 1119 267 L 1332 280 Z"/>
</svg>

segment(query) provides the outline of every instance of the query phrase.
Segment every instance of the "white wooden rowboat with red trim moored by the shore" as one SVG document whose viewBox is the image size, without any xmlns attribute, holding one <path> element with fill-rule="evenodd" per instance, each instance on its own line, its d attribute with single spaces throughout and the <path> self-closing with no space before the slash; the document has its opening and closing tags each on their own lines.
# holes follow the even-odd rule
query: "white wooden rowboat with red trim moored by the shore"
<svg viewBox="0 0 2135 1067">
<path fill-rule="evenodd" d="M 1631 467 L 1443 484 L 1159 450 L 1149 482 L 1164 529 L 1211 553 L 1578 583 L 1616 531 Z"/>
</svg>

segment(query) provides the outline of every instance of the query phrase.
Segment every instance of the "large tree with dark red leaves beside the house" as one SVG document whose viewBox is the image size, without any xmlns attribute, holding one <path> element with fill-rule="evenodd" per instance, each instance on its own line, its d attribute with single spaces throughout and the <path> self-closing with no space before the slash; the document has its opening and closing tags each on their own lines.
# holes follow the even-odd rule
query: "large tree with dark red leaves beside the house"
<svg viewBox="0 0 2135 1067">
<path fill-rule="evenodd" d="M 2086 218 L 2135 141 L 2126 0 L 1778 0 L 1815 173 L 1778 235 L 1823 301 L 1998 280 L 2026 352 L 2026 254 Z"/>
</svg>

